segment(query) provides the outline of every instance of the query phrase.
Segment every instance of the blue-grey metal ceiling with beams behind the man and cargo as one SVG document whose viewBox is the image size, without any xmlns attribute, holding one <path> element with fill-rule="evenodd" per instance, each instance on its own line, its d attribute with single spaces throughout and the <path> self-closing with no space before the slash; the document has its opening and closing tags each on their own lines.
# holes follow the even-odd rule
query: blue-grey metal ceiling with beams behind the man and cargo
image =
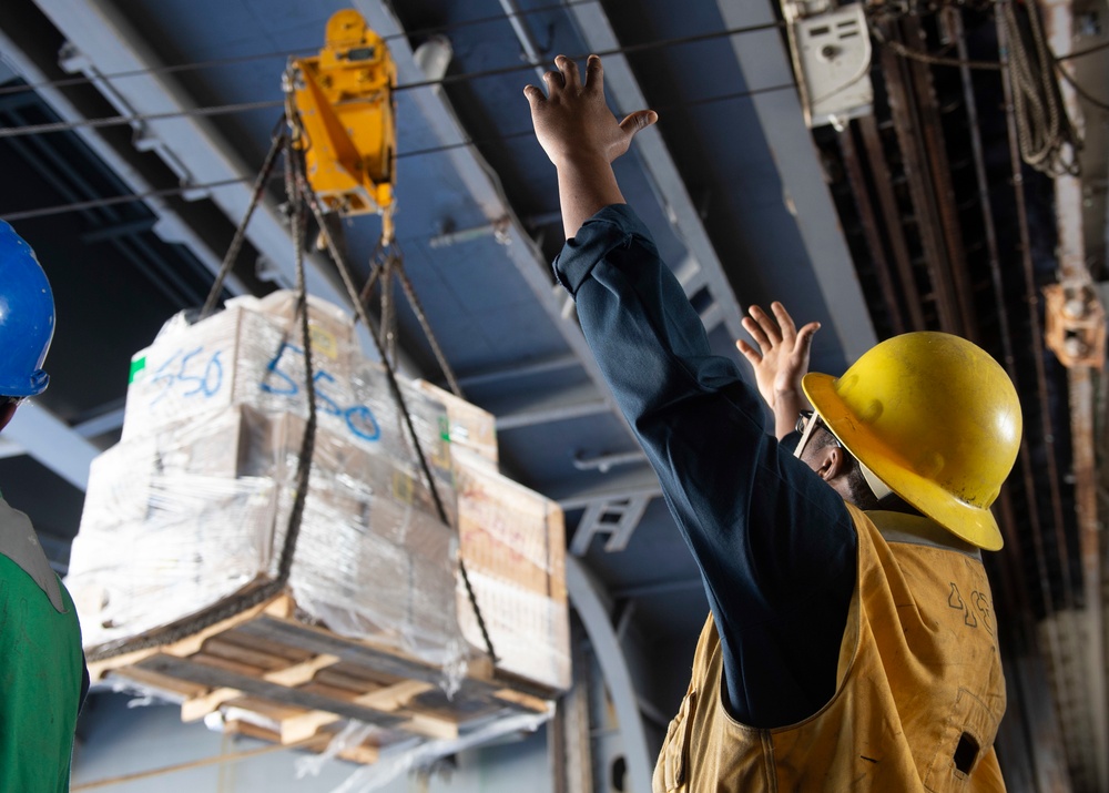
<svg viewBox="0 0 1109 793">
<path fill-rule="evenodd" d="M 38 250 L 59 305 L 52 385 L 6 430 L 0 485 L 53 538 L 60 568 L 89 460 L 119 437 L 131 354 L 203 299 L 268 149 L 285 60 L 317 50 L 346 4 L 0 6 L 0 216 Z M 661 741 L 706 602 L 550 275 L 562 241 L 554 173 L 521 89 L 559 52 L 602 54 L 617 113 L 659 110 L 618 175 L 716 352 L 735 355 L 747 305 L 782 299 L 823 323 L 817 370 L 924 327 L 977 338 L 1009 367 L 1028 438 L 999 502 L 1008 546 L 990 568 L 1010 623 L 1001 763 L 1013 790 L 1106 790 L 1105 384 L 1045 350 L 1039 294 L 1059 274 L 1105 278 L 1105 112 L 1064 84 L 1086 119 L 1082 177 L 1015 162 L 998 72 L 906 55 L 997 61 L 988 3 L 942 14 L 873 3 L 893 43 L 875 51 L 875 114 L 843 131 L 805 125 L 781 12 L 763 0 L 352 4 L 398 67 L 406 271 L 467 398 L 497 416 L 505 471 L 567 509 L 568 583 L 629 761 Z M 1103 2 L 1044 7 L 1056 52 L 1103 42 Z M 1069 63 L 1105 93 L 1103 54 Z M 20 130 L 50 123 L 64 129 Z M 272 186 L 227 295 L 293 282 Z M 111 203 L 128 195 L 140 197 Z M 343 231 L 365 274 L 378 221 Z M 345 304 L 327 257 L 309 262 L 309 289 Z M 406 374 L 441 382 L 413 313 L 399 319 Z M 630 765 L 633 790 L 641 765 Z"/>
</svg>

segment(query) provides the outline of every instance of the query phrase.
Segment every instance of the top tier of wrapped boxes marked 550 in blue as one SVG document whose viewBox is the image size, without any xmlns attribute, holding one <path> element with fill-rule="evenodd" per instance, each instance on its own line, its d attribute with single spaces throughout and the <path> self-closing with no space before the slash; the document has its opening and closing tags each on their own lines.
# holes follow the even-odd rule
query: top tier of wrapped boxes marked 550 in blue
<svg viewBox="0 0 1109 793">
<path fill-rule="evenodd" d="M 131 362 L 123 440 L 149 437 L 186 420 L 204 420 L 232 405 L 307 416 L 304 348 L 287 292 L 238 297 L 199 323 L 179 314 Z M 273 312 L 273 313 L 269 313 Z M 414 459 L 381 367 L 362 358 L 353 325 L 335 306 L 309 297 L 313 385 L 317 421 L 336 437 L 395 459 Z M 405 384 L 420 445 L 449 482 L 447 411 Z"/>
</svg>

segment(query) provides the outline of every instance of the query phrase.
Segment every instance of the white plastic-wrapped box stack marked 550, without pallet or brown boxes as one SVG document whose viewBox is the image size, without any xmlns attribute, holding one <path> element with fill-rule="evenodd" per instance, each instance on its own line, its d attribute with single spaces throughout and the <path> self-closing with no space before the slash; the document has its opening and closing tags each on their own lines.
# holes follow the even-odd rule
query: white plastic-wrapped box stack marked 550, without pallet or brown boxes
<svg viewBox="0 0 1109 793">
<path fill-rule="evenodd" d="M 309 298 L 316 450 L 289 587 L 332 630 L 451 668 L 456 540 L 418 474 L 379 365 L 340 309 Z M 277 575 L 308 413 L 291 293 L 173 317 L 136 354 L 124 440 L 96 459 L 70 580 L 85 641 L 175 622 Z M 403 384 L 452 519 L 442 405 Z"/>
</svg>

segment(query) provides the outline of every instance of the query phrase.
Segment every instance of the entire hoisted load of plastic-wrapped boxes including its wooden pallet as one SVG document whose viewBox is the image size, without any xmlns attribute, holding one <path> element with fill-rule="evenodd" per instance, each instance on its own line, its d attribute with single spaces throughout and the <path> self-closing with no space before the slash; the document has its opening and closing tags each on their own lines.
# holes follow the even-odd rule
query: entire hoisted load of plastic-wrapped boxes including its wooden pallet
<svg viewBox="0 0 1109 793">
<path fill-rule="evenodd" d="M 570 684 L 561 510 L 498 472 L 490 414 L 400 379 L 428 481 L 350 319 L 315 299 L 308 318 L 317 428 L 288 579 L 196 631 L 193 616 L 278 576 L 308 415 L 295 297 L 174 317 L 134 356 L 123 439 L 93 461 L 67 584 L 94 652 L 185 627 L 90 671 L 282 743 L 373 725 L 344 750 L 359 762 L 540 723 Z"/>
</svg>

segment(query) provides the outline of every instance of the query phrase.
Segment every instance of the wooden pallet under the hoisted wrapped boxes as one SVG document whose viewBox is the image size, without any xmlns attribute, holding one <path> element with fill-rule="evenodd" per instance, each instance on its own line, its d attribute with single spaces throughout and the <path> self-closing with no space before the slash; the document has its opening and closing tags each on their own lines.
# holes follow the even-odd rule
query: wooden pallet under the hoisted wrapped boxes
<svg viewBox="0 0 1109 793">
<path fill-rule="evenodd" d="M 399 740 L 450 739 L 469 722 L 547 712 L 553 697 L 497 679 L 481 660 L 448 698 L 438 667 L 305 624 L 294 613 L 292 597 L 279 594 L 172 644 L 94 661 L 89 672 L 93 681 L 123 679 L 180 701 L 183 721 L 220 710 L 228 731 L 282 744 L 357 719 L 380 728 L 340 755 L 363 763 Z M 226 718 L 236 713 L 250 718 Z"/>
</svg>

